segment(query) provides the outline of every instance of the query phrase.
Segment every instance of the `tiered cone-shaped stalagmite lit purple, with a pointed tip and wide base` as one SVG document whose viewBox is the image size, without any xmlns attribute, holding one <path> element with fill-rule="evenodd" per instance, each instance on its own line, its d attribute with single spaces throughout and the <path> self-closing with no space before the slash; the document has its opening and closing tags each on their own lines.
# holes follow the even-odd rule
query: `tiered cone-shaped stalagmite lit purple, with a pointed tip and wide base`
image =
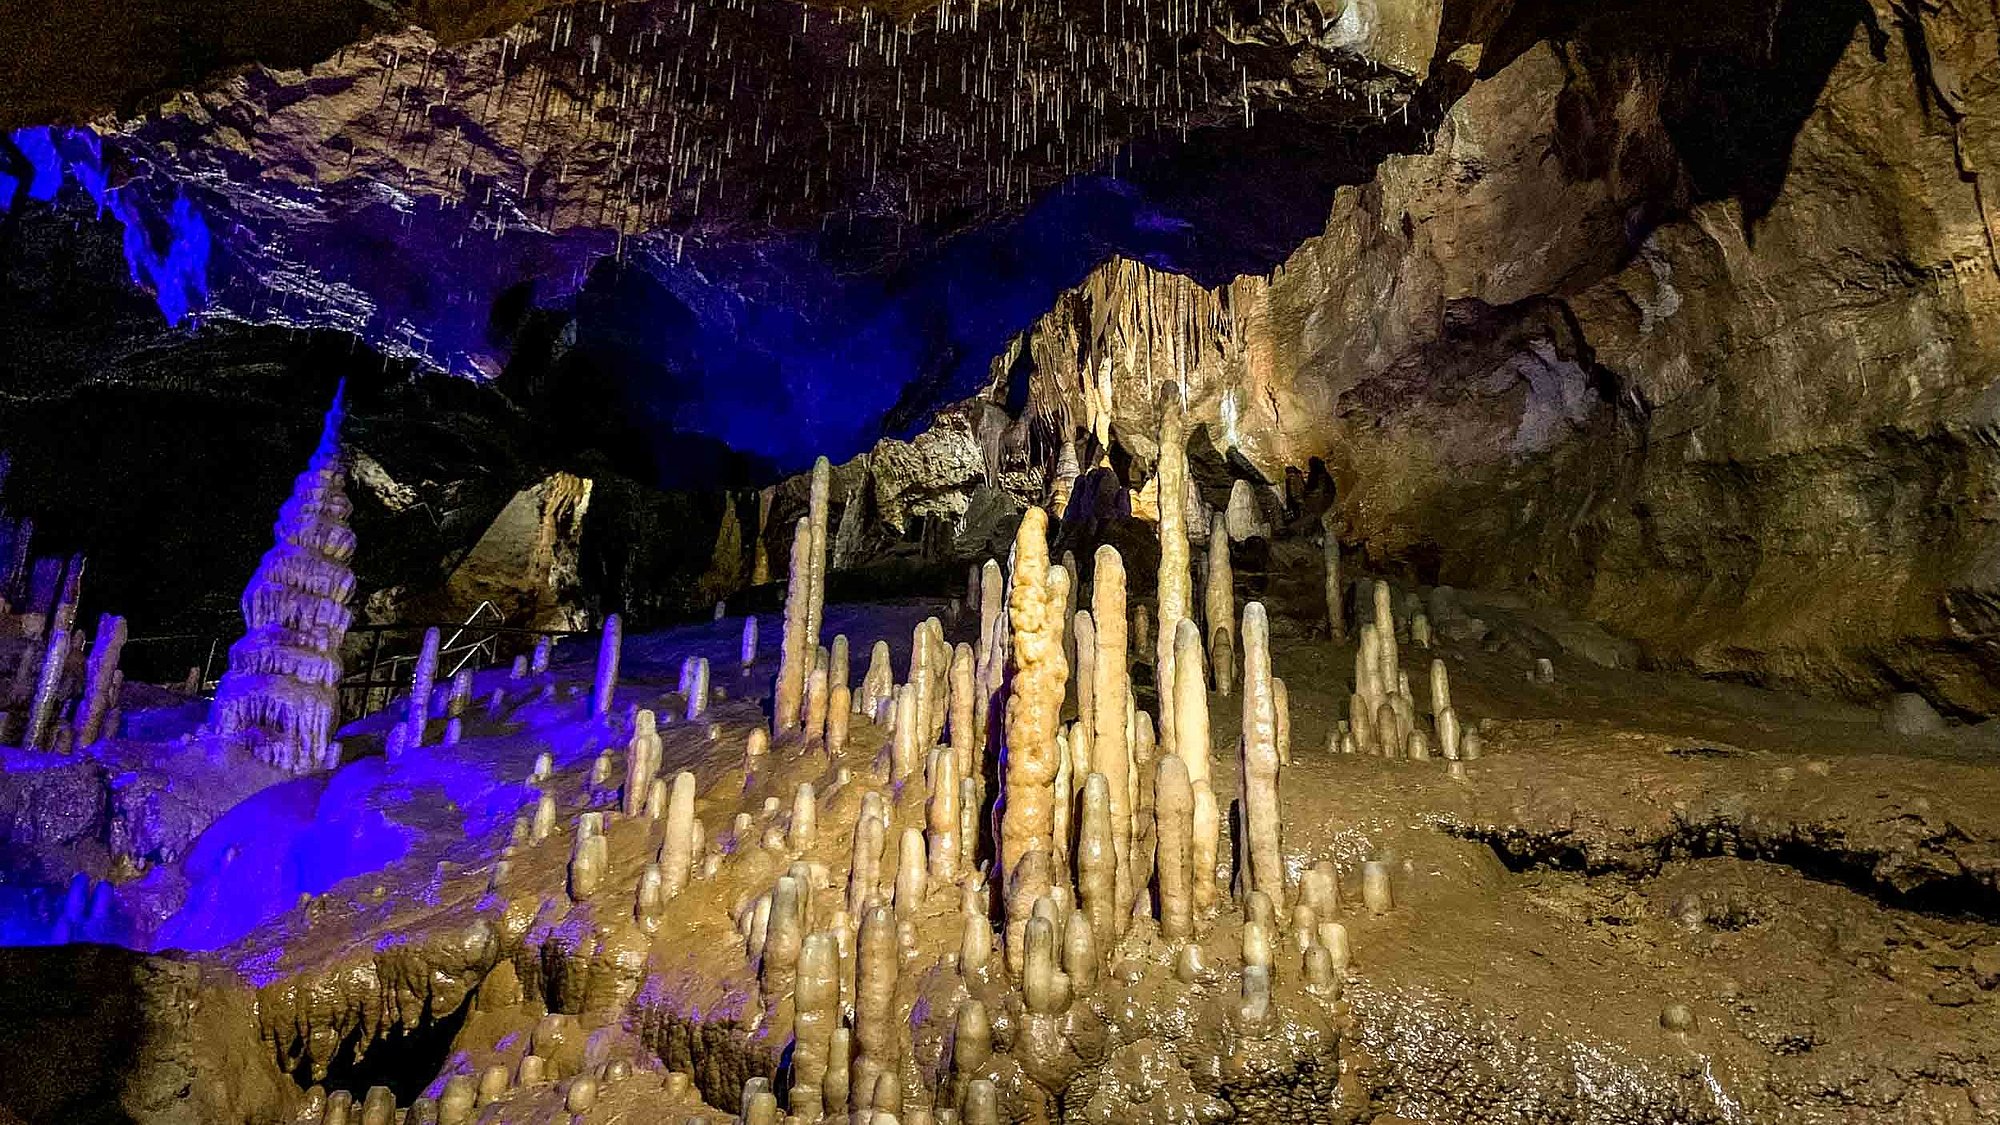
<svg viewBox="0 0 2000 1125">
<path fill-rule="evenodd" d="M 208 729 L 250 743 L 256 757 L 292 773 L 336 765 L 340 641 L 352 615 L 354 532 L 342 480 L 342 394 L 326 412 L 320 446 L 278 512 L 278 542 L 244 589 L 248 627 L 230 645 Z"/>
</svg>

